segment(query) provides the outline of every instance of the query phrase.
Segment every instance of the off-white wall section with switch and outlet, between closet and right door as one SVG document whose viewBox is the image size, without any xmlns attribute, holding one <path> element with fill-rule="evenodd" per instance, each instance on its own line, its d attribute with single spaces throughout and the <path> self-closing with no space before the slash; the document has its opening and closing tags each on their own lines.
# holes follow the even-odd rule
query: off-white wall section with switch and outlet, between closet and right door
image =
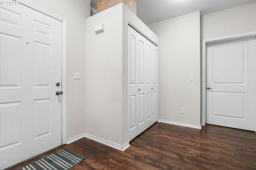
<svg viewBox="0 0 256 170">
<path fill-rule="evenodd" d="M 160 39 L 159 119 L 200 127 L 200 12 L 148 26 Z"/>
</svg>

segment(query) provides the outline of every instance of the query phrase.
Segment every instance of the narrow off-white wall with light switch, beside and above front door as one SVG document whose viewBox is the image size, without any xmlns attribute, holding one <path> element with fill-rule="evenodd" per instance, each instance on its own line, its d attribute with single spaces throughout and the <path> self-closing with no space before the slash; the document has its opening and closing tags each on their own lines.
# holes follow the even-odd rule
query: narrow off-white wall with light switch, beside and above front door
<svg viewBox="0 0 256 170">
<path fill-rule="evenodd" d="M 67 20 L 67 139 L 84 133 L 84 19 L 90 0 L 28 0 Z M 74 80 L 74 72 L 81 80 Z"/>
</svg>

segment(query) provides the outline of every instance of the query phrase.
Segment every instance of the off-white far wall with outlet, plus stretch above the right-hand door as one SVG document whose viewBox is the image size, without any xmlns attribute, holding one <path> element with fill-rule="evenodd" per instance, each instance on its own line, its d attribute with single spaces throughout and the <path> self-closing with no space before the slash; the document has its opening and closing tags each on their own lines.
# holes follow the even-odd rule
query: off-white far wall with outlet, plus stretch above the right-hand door
<svg viewBox="0 0 256 170">
<path fill-rule="evenodd" d="M 256 2 L 206 14 L 192 13 L 148 25 L 160 38 L 160 119 L 200 123 L 201 39 L 256 31 Z M 200 21 L 200 27 L 199 22 Z M 189 76 L 194 75 L 190 82 Z M 185 109 L 184 115 L 180 108 Z"/>
</svg>

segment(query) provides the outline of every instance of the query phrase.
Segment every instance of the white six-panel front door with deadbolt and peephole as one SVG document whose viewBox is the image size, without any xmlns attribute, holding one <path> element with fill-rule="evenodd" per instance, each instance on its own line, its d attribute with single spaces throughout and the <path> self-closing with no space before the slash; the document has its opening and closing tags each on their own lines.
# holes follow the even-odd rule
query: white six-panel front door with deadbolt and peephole
<svg viewBox="0 0 256 170">
<path fill-rule="evenodd" d="M 0 169 L 62 144 L 61 50 L 61 21 L 0 6 Z"/>
</svg>

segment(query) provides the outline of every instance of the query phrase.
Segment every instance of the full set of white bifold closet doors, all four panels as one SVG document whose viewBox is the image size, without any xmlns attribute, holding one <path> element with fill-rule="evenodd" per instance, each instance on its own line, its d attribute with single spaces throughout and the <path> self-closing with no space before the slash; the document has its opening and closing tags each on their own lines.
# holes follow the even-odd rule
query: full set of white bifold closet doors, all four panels
<svg viewBox="0 0 256 170">
<path fill-rule="evenodd" d="M 129 141 L 157 121 L 157 47 L 129 26 Z"/>
</svg>

